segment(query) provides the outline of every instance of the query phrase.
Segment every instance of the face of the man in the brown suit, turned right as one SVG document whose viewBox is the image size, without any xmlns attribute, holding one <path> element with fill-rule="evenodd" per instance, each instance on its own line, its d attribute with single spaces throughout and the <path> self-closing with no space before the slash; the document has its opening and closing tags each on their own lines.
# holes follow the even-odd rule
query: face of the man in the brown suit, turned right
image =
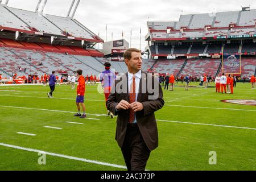
<svg viewBox="0 0 256 182">
<path fill-rule="evenodd" d="M 131 59 L 125 60 L 127 67 L 133 69 L 134 71 L 140 71 L 142 68 L 142 55 L 141 52 L 132 52 Z"/>
</svg>

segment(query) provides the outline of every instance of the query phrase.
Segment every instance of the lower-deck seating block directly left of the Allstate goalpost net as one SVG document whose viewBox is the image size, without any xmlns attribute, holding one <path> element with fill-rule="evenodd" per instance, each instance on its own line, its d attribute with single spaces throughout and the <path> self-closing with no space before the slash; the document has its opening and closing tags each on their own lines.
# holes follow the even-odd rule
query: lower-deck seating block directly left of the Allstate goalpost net
<svg viewBox="0 0 256 182">
<path fill-rule="evenodd" d="M 200 77 L 207 73 L 207 75 L 215 76 L 220 64 L 220 59 L 189 59 L 180 75 Z"/>
</svg>

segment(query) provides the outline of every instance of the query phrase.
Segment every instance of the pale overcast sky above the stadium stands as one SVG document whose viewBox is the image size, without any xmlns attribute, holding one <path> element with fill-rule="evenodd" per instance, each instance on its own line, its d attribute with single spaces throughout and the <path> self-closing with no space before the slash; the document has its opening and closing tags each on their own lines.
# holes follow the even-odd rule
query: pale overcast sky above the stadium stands
<svg viewBox="0 0 256 182">
<path fill-rule="evenodd" d="M 44 1 L 44 0 L 43 0 Z M 4 3 L 3 0 L 2 3 Z M 66 16 L 72 0 L 48 0 L 43 11 L 45 14 Z M 35 0 L 9 0 L 8 6 L 34 11 L 38 1 Z M 75 19 L 100 37 L 106 39 L 106 24 L 108 24 L 108 41 L 124 38 L 131 46 L 139 48 L 139 30 L 142 27 L 142 50 L 147 42 L 147 20 L 171 21 L 179 20 L 180 14 L 216 13 L 218 11 L 241 10 L 241 6 L 256 9 L 255 0 L 81 0 L 76 11 Z M 256 18 L 256 17 L 255 17 Z"/>
</svg>

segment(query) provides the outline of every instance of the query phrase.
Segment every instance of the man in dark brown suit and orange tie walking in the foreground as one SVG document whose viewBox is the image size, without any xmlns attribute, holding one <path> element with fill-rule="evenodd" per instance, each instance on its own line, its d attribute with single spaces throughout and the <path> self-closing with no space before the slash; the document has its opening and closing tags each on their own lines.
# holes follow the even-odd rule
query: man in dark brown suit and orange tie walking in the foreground
<svg viewBox="0 0 256 182">
<path fill-rule="evenodd" d="M 118 115 L 115 139 L 128 171 L 143 171 L 150 152 L 158 147 L 154 112 L 164 105 L 163 91 L 158 77 L 141 71 L 141 51 L 127 49 L 124 59 L 128 72 L 115 80 L 107 106 Z"/>
</svg>

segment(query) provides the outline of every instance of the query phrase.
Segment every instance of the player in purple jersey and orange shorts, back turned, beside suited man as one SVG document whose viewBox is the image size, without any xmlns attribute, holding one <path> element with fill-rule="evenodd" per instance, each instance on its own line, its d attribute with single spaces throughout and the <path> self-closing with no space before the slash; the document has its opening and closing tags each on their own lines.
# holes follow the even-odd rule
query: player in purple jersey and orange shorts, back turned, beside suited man
<svg viewBox="0 0 256 182">
<path fill-rule="evenodd" d="M 110 70 L 111 64 L 109 62 L 106 62 L 104 66 L 105 71 L 101 72 L 100 81 L 104 85 L 105 100 L 107 101 L 111 91 L 111 87 L 115 81 L 115 73 Z M 110 115 L 111 118 L 114 118 L 114 114 L 109 110 L 108 115 Z"/>
</svg>

